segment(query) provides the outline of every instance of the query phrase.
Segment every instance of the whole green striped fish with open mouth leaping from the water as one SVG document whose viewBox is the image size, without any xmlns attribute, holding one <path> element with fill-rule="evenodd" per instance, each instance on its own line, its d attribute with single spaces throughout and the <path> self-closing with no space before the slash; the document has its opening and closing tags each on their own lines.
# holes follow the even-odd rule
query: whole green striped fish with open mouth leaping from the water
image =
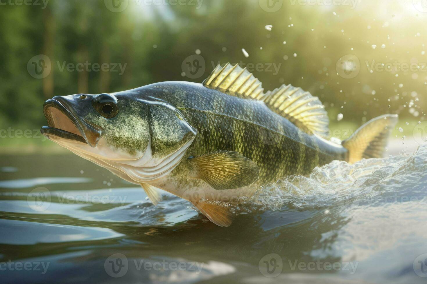
<svg viewBox="0 0 427 284">
<path fill-rule="evenodd" d="M 336 141 L 319 98 L 290 84 L 264 91 L 230 63 L 202 83 L 55 96 L 43 112 L 51 141 L 142 186 L 153 204 L 164 190 L 222 227 L 235 218 L 230 207 L 260 186 L 335 160 L 383 157 L 398 121 L 383 115 Z"/>
</svg>

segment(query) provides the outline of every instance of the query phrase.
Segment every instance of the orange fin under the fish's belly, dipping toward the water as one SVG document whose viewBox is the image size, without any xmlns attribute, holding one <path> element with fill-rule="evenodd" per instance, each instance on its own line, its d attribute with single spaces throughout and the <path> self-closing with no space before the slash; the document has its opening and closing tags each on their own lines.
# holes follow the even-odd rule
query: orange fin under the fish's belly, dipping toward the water
<svg viewBox="0 0 427 284">
<path fill-rule="evenodd" d="M 220 227 L 228 227 L 233 222 L 233 215 L 228 210 L 227 204 L 221 201 L 195 201 L 192 203 L 209 221 Z"/>
</svg>

